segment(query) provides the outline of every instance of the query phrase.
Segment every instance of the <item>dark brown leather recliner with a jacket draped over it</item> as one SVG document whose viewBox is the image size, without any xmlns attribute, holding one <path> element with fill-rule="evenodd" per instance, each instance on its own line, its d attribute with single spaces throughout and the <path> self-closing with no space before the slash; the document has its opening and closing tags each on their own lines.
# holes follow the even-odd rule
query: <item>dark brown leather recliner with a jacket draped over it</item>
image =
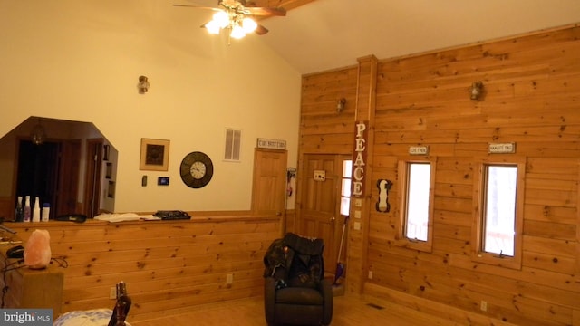
<svg viewBox="0 0 580 326">
<path fill-rule="evenodd" d="M 324 279 L 324 242 L 288 233 L 264 257 L 268 325 L 328 325 L 333 289 Z"/>
</svg>

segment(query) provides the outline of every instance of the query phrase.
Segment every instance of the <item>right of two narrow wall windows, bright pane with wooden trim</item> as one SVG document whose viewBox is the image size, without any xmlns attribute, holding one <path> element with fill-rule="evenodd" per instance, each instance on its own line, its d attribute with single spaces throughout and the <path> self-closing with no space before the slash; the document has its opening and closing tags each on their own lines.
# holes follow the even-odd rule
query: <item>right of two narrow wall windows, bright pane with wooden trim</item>
<svg viewBox="0 0 580 326">
<path fill-rule="evenodd" d="M 474 211 L 474 259 L 521 266 L 525 162 L 483 161 L 478 168 Z"/>
</svg>

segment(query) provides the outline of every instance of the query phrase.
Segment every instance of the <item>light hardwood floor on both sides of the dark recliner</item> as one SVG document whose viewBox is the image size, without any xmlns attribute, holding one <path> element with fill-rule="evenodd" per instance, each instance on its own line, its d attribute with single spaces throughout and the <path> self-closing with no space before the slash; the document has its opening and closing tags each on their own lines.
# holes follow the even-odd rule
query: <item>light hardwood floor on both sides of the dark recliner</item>
<svg viewBox="0 0 580 326">
<path fill-rule="evenodd" d="M 150 321 L 128 321 L 132 326 L 262 326 L 266 325 L 261 297 L 234 302 L 208 304 L 193 308 L 192 312 Z M 131 316 L 130 316 L 131 317 Z M 424 326 L 455 325 L 454 322 L 417 312 L 391 302 L 360 300 L 349 296 L 334 297 L 333 326 Z"/>
</svg>

